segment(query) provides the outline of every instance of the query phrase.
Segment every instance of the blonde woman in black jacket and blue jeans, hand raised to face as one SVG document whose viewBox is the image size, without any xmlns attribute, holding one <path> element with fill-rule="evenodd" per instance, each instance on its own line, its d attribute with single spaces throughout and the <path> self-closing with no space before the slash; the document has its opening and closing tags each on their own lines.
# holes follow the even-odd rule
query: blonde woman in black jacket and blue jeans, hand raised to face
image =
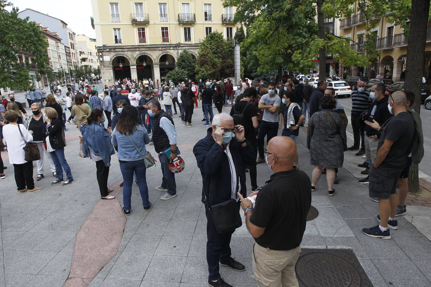
<svg viewBox="0 0 431 287">
<path fill-rule="evenodd" d="M 64 147 L 66 140 L 64 138 L 63 123 L 58 119 L 58 114 L 53 108 L 45 108 L 45 123 L 43 134 L 46 136 L 44 142 L 47 145 L 47 151 L 50 152 L 55 169 L 57 172 L 57 179 L 51 182 L 51 185 L 56 185 L 63 182 L 63 169 L 66 172 L 67 180 L 63 185 L 69 185 L 73 182 L 72 172 L 70 171 L 69 164 L 64 156 Z"/>
</svg>

